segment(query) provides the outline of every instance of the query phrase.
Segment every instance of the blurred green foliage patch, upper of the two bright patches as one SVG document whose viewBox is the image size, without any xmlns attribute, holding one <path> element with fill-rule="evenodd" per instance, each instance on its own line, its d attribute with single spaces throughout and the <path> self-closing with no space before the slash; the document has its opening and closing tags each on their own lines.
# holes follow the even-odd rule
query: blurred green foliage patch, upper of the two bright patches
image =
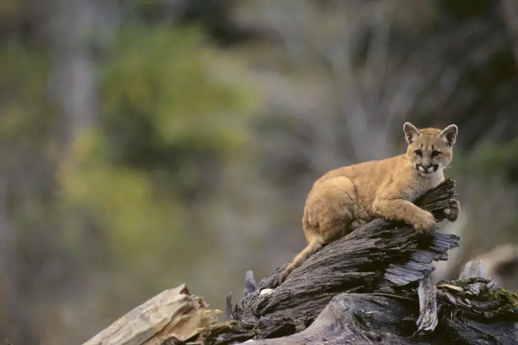
<svg viewBox="0 0 518 345">
<path fill-rule="evenodd" d="M 242 144 L 244 132 L 233 122 L 247 114 L 247 92 L 218 80 L 214 70 L 223 61 L 207 46 L 195 29 L 122 30 L 102 85 L 106 126 L 120 135 L 128 121 L 146 123 L 155 150 Z"/>
</svg>

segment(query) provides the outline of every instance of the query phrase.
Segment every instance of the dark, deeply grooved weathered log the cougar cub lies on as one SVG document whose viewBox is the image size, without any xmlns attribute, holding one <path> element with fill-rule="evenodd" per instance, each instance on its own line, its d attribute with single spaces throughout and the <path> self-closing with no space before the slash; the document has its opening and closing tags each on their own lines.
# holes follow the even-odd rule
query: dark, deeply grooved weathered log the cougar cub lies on
<svg viewBox="0 0 518 345">
<path fill-rule="evenodd" d="M 442 220 L 455 196 L 453 187 L 448 179 L 416 204 Z M 309 257 L 280 286 L 278 273 L 289 262 L 278 268 L 259 284 L 259 290 L 273 288 L 271 293 L 256 291 L 227 314 L 243 330 L 265 337 L 278 333 L 280 325 L 285 332 L 302 331 L 339 293 L 394 292 L 411 283 L 416 287 L 434 270 L 432 261 L 447 259 L 448 250 L 458 245 L 454 235 L 418 235 L 401 222 L 376 219 Z"/>
</svg>

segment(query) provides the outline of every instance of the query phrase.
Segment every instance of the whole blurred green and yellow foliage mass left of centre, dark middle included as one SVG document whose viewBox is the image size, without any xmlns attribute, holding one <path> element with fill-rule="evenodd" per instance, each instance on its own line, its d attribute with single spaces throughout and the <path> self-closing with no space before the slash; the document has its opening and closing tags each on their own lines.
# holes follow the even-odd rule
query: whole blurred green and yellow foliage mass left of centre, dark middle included
<svg viewBox="0 0 518 345">
<path fill-rule="evenodd" d="M 100 125 L 76 139 L 57 175 L 64 212 L 77 216 L 64 238 L 80 248 L 94 228 L 113 268 L 155 275 L 165 288 L 160 266 L 187 257 L 203 232 L 186 225 L 189 199 L 246 152 L 253 98 L 218 75 L 232 61 L 195 28 L 123 28 L 114 49 L 102 69 Z"/>
</svg>

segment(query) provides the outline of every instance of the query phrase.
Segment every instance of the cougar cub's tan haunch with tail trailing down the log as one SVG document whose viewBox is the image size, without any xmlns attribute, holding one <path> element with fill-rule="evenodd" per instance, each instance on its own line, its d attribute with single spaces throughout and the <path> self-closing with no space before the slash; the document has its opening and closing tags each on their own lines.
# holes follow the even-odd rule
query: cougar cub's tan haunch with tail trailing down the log
<svg viewBox="0 0 518 345">
<path fill-rule="evenodd" d="M 347 177 L 336 177 L 314 186 L 304 208 L 303 229 L 307 246 L 279 275 L 279 284 L 308 257 L 351 231 L 354 219 L 354 186 Z"/>
</svg>

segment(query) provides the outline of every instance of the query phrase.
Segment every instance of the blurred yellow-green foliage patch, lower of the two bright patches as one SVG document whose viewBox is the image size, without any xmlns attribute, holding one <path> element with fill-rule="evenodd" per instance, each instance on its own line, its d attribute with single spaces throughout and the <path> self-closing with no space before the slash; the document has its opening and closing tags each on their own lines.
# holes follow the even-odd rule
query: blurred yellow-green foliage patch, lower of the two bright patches
<svg viewBox="0 0 518 345">
<path fill-rule="evenodd" d="M 70 248 L 81 248 L 88 237 L 80 234 L 93 224 L 115 268 L 145 272 L 147 265 L 160 264 L 151 258 L 162 259 L 169 250 L 184 248 L 178 200 L 156 197 L 144 172 L 113 166 L 103 157 L 104 150 L 109 150 L 104 137 L 90 132 L 77 139 L 70 159 L 61 164 L 58 176 L 66 213 L 81 215 L 73 218 L 75 224 L 69 224 L 64 235 Z"/>
</svg>

